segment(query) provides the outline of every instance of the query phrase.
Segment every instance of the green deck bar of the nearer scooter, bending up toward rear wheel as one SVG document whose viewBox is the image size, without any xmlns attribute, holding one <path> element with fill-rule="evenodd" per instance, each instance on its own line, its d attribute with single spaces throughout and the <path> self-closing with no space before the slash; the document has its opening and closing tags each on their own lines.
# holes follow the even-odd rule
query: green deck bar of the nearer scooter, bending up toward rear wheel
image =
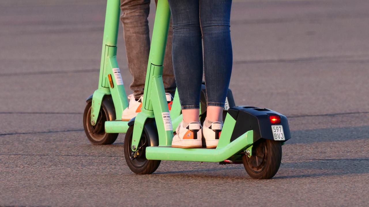
<svg viewBox="0 0 369 207">
<path fill-rule="evenodd" d="M 239 136 L 234 141 L 221 148 L 174 148 L 174 147 L 146 147 L 146 159 L 221 162 L 245 150 L 253 143 L 253 130 Z"/>
</svg>

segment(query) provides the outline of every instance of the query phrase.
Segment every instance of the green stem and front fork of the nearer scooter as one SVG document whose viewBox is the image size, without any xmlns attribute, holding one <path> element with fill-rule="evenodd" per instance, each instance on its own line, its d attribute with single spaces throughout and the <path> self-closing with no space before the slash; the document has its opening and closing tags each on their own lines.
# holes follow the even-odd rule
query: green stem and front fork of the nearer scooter
<svg viewBox="0 0 369 207">
<path fill-rule="evenodd" d="M 170 9 L 168 0 L 158 0 L 152 33 L 149 61 L 147 64 L 144 97 L 141 112 L 135 117 L 133 128 L 132 151 L 135 151 L 141 139 L 142 130 L 147 118 L 155 117 L 159 134 L 159 145 L 170 146 L 173 138 L 172 123 L 168 119 L 169 109 L 165 98 L 163 85 L 163 62 L 166 40 L 170 22 Z"/>
</svg>

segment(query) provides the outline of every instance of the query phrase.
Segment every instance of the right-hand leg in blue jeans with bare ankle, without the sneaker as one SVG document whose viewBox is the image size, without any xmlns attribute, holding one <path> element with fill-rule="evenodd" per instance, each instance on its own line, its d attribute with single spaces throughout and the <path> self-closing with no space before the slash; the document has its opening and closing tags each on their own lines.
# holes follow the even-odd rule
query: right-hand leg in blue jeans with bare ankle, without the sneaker
<svg viewBox="0 0 369 207">
<path fill-rule="evenodd" d="M 232 72 L 231 0 L 200 0 L 207 120 L 222 122 Z"/>
</svg>

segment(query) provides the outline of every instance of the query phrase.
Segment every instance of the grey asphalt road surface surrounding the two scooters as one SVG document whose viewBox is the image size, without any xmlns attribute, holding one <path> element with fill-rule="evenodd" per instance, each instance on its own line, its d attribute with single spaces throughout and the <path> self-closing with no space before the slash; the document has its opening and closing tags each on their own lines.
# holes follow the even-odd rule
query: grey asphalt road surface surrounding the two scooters
<svg viewBox="0 0 369 207">
<path fill-rule="evenodd" d="M 175 161 L 135 175 L 124 134 L 89 143 L 104 13 L 104 0 L 0 1 L 0 206 L 368 206 L 368 0 L 233 1 L 236 104 L 279 111 L 292 130 L 270 180 Z"/>
</svg>

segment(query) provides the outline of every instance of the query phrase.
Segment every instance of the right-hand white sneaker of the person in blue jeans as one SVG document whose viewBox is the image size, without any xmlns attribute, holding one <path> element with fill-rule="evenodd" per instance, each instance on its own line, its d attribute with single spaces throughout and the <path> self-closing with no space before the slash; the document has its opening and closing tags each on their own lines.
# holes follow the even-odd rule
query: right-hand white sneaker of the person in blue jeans
<svg viewBox="0 0 369 207">
<path fill-rule="evenodd" d="M 206 127 L 204 124 L 203 134 L 206 142 L 206 148 L 217 147 L 222 129 L 223 124 L 221 122 L 213 122 L 209 127 Z"/>
</svg>

